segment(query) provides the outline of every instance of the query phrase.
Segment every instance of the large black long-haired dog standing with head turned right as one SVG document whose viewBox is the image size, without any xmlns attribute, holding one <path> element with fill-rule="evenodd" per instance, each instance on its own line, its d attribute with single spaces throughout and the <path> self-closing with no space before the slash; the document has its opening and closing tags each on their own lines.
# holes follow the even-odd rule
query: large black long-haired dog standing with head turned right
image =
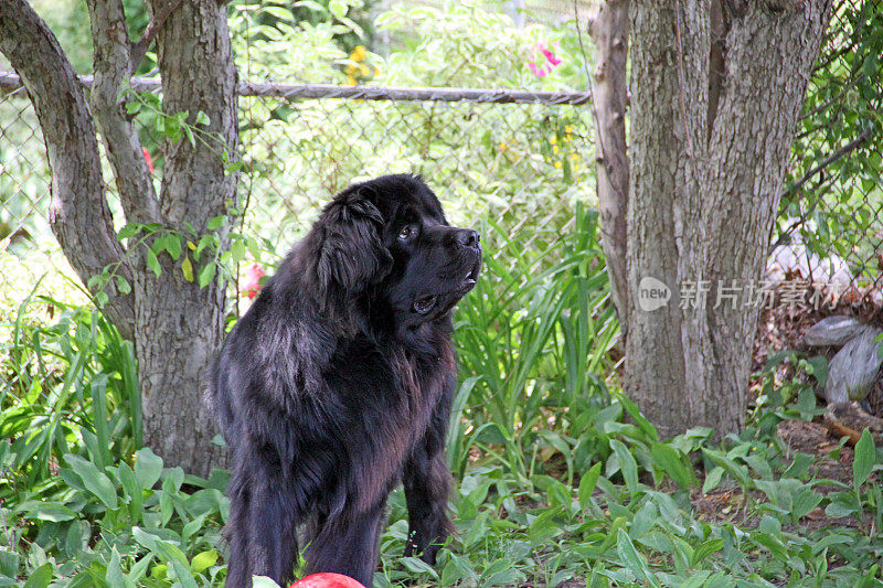
<svg viewBox="0 0 883 588">
<path fill-rule="evenodd" d="M 435 563 L 451 528 L 444 457 L 451 308 L 476 284 L 479 235 L 451 227 L 419 178 L 338 194 L 227 338 L 210 400 L 230 447 L 227 586 L 309 573 L 371 586 L 402 480 L 406 555 Z"/>
</svg>

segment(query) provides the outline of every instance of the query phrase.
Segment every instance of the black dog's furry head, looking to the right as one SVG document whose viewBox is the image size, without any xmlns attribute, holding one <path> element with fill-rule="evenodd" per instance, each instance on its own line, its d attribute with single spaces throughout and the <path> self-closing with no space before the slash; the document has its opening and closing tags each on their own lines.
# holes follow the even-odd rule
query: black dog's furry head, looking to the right
<svg viewBox="0 0 883 588">
<path fill-rule="evenodd" d="M 479 234 L 448 225 L 438 199 L 413 175 L 347 189 L 313 231 L 320 286 L 361 300 L 398 331 L 449 312 L 481 267 Z"/>
</svg>

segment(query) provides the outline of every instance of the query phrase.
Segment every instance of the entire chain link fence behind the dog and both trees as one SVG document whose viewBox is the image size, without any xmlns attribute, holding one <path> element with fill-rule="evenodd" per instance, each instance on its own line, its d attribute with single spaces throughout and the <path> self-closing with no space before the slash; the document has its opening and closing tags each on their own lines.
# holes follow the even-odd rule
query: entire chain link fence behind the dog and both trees
<svg viewBox="0 0 883 588">
<path fill-rule="evenodd" d="M 834 307 L 883 303 L 880 8 L 880 0 L 837 3 L 770 235 L 768 276 L 821 287 Z M 156 94 L 159 83 L 137 79 L 136 88 Z M 0 329 L 9 332 L 41 279 L 43 292 L 85 297 L 49 228 L 51 175 L 30 101 L 13 76 L 0 75 Z M 349 183 L 414 172 L 451 222 L 496 223 L 489 252 L 503 250 L 492 239 L 504 235 L 519 235 L 524 255 L 543 250 L 572 222 L 574 201 L 594 199 L 587 100 L 585 93 L 244 83 L 242 232 L 259 238 L 267 255 L 258 261 L 272 265 Z M 149 114 L 138 121 L 159 182 L 164 139 Z M 113 182 L 107 189 L 113 201 Z"/>
</svg>

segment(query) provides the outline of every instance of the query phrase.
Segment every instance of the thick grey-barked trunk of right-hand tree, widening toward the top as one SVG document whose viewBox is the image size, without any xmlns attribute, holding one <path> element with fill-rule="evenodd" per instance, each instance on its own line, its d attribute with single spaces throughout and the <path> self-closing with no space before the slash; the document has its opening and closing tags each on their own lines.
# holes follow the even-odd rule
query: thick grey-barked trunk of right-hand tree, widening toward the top
<svg viewBox="0 0 883 588">
<path fill-rule="evenodd" d="M 746 295 L 829 19 L 828 0 L 631 4 L 626 389 L 663 436 L 744 425 Z"/>
</svg>

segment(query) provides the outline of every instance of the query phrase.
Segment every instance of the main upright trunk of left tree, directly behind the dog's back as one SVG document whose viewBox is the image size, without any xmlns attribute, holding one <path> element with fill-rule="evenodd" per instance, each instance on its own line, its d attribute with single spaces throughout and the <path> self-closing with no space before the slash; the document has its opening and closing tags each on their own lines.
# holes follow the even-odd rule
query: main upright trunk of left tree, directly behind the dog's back
<svg viewBox="0 0 883 588">
<path fill-rule="evenodd" d="M 150 2 L 156 14 L 163 0 Z M 160 210 L 172 231 L 188 224 L 206 231 L 210 218 L 236 206 L 236 177 L 225 172 L 221 157 L 236 156 L 236 72 L 227 30 L 226 10 L 215 0 L 182 2 L 157 36 L 162 76 L 162 107 L 168 114 L 188 110 L 209 116 L 193 143 L 167 140 Z M 220 235 L 221 250 L 226 248 Z M 185 250 L 187 253 L 187 250 Z M 203 266 L 214 264 L 203 254 Z M 225 281 L 213 279 L 205 288 L 188 281 L 168 255 L 160 256 L 157 279 L 141 274 L 134 291 L 139 301 L 136 339 L 145 442 L 193 473 L 208 473 L 221 460 L 209 441 L 214 425 L 202 406 L 202 389 L 212 356 L 224 335 Z M 194 264 L 194 274 L 199 274 Z"/>
</svg>

